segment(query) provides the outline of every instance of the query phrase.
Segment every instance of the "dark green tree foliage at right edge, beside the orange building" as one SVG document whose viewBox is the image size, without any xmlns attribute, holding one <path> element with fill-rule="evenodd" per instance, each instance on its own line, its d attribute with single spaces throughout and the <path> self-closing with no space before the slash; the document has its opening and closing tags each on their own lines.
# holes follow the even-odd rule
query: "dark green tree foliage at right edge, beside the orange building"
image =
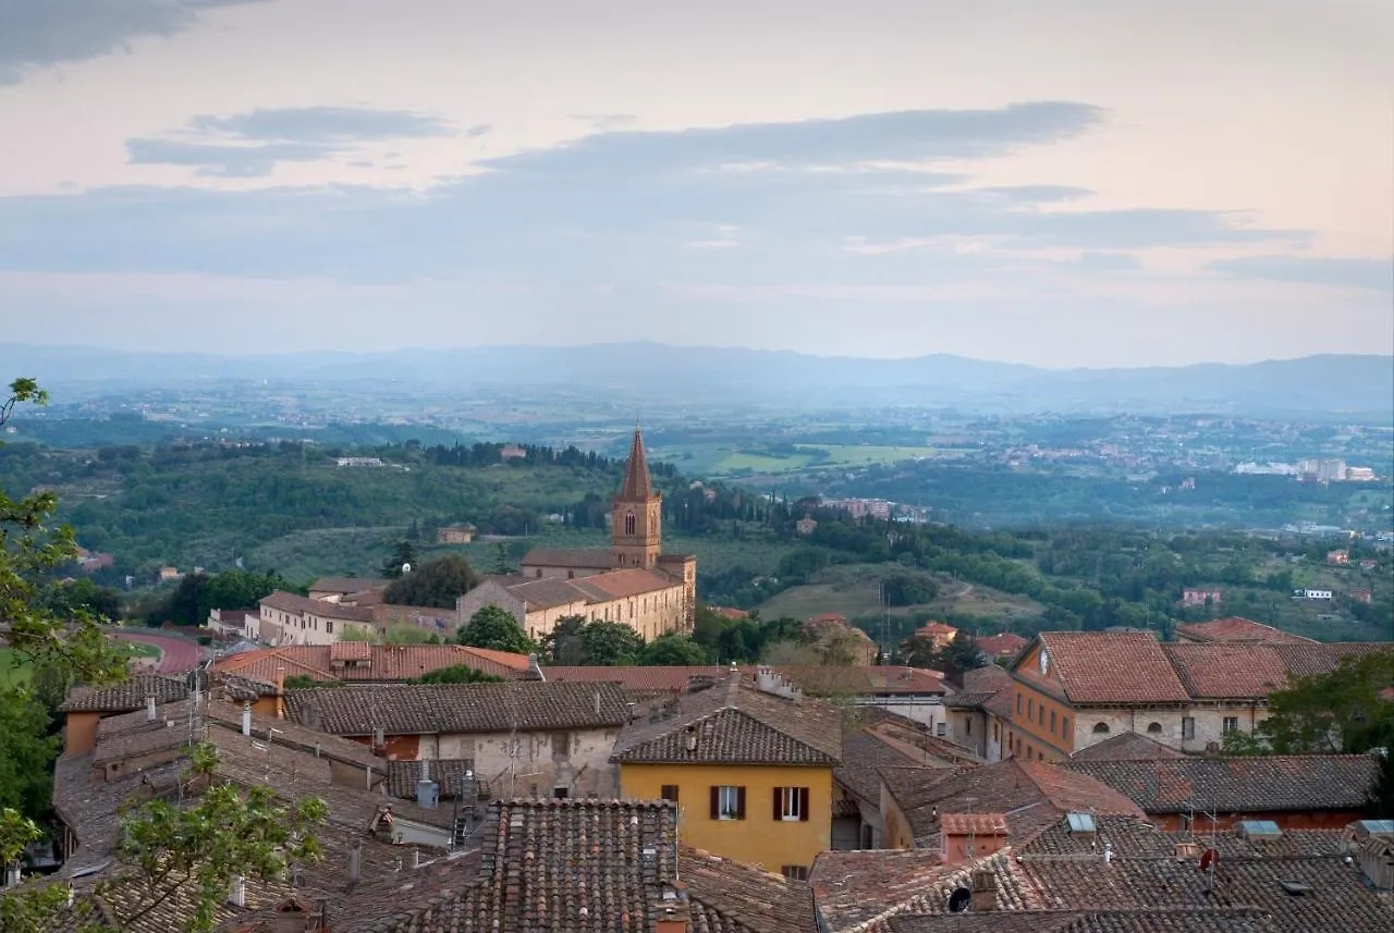
<svg viewBox="0 0 1394 933">
<path fill-rule="evenodd" d="M 1269 696 L 1252 738 L 1225 737 L 1232 753 L 1334 755 L 1394 748 L 1394 648 L 1347 657 L 1328 674 L 1292 678 Z"/>
</svg>

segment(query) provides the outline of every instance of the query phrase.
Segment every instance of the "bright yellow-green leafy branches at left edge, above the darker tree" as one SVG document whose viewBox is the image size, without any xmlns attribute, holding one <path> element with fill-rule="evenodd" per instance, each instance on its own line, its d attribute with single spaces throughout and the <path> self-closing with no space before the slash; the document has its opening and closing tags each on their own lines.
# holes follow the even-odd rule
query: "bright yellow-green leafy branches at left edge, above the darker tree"
<svg viewBox="0 0 1394 933">
<path fill-rule="evenodd" d="M 0 401 L 0 426 L 17 404 L 43 404 L 47 394 L 32 379 L 10 383 Z M 29 660 L 64 661 L 82 680 L 120 680 L 125 659 L 107 642 L 98 617 L 86 610 L 57 617 L 45 607 L 45 581 L 77 556 L 72 529 L 54 526 L 57 497 L 39 492 L 18 500 L 0 492 L 0 618 L 10 624 L 10 648 Z"/>
</svg>

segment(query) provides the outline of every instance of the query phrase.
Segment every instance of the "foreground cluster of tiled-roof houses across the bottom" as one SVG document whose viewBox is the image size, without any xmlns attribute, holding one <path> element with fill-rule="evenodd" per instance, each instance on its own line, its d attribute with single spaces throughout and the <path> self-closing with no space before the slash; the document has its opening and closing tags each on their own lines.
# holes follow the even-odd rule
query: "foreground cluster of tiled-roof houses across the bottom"
<svg viewBox="0 0 1394 933">
<path fill-rule="evenodd" d="M 329 808 L 325 859 L 240 879 L 231 933 L 1394 929 L 1377 758 L 1216 745 L 1289 674 L 1390 646 L 1245 620 L 1182 635 L 1047 632 L 956 692 L 895 667 L 244 652 L 70 693 L 46 883 L 77 904 L 106 881 L 114 930 L 183 929 L 187 898 L 149 908 L 121 875 L 120 819 L 188 794 L 209 742 L 215 780 Z M 499 680 L 408 682 L 460 664 Z M 926 696 L 941 717 L 902 714 Z"/>
</svg>

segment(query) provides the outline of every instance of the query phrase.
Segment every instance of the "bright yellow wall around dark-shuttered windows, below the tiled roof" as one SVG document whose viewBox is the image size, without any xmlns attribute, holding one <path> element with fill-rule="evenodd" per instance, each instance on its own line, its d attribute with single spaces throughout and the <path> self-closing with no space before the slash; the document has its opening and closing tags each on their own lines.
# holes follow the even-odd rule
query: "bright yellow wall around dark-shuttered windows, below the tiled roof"
<svg viewBox="0 0 1394 933">
<path fill-rule="evenodd" d="M 677 785 L 682 842 L 722 858 L 779 872 L 786 865 L 811 868 L 832 848 L 832 769 L 774 765 L 623 765 L 622 797 L 658 799 L 665 784 Z M 746 788 L 746 819 L 711 819 L 711 788 Z M 774 819 L 774 788 L 807 787 L 807 822 Z"/>
</svg>

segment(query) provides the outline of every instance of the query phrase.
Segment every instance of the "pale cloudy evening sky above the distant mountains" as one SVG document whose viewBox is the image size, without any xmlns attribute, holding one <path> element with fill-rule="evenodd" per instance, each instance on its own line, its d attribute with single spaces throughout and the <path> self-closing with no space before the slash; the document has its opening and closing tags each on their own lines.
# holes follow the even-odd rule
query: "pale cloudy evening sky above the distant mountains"
<svg viewBox="0 0 1394 933">
<path fill-rule="evenodd" d="M 1387 0 L 0 0 L 0 343 L 1394 352 Z"/>
</svg>

